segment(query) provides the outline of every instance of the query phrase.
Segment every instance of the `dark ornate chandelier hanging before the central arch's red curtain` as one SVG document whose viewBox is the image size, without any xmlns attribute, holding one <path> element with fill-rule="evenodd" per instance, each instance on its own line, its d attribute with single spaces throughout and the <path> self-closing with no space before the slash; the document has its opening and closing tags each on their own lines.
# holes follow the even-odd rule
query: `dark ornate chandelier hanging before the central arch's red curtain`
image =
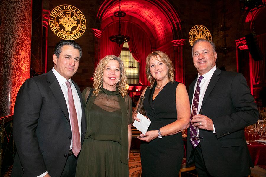
<svg viewBox="0 0 266 177">
<path fill-rule="evenodd" d="M 123 44 L 124 42 L 129 42 L 130 41 L 130 37 L 126 36 L 126 35 L 122 35 L 121 34 L 121 23 L 120 23 L 120 18 L 121 17 L 125 17 L 126 16 L 126 12 L 121 11 L 120 9 L 120 0 L 119 0 L 119 11 L 116 11 L 113 13 L 113 15 L 115 17 L 119 17 L 119 26 L 118 26 L 118 35 L 113 35 L 109 37 L 109 40 L 112 42 L 116 42 L 119 47 L 121 44 Z"/>
</svg>

